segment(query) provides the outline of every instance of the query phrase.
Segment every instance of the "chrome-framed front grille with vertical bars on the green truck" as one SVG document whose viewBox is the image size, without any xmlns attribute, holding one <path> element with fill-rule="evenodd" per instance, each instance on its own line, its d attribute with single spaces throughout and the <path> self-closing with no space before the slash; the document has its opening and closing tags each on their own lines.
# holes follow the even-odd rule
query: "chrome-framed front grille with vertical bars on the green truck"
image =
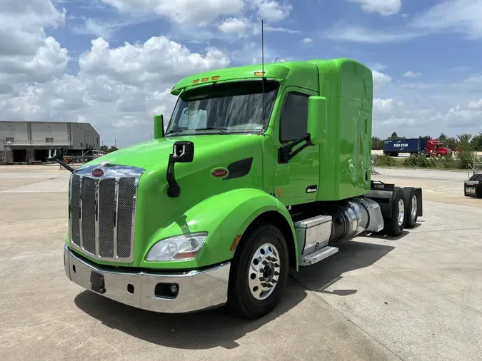
<svg viewBox="0 0 482 361">
<path fill-rule="evenodd" d="M 104 174 L 91 172 L 101 168 Z M 70 229 L 74 249 L 99 260 L 134 258 L 136 193 L 142 168 L 88 166 L 71 176 Z"/>
</svg>

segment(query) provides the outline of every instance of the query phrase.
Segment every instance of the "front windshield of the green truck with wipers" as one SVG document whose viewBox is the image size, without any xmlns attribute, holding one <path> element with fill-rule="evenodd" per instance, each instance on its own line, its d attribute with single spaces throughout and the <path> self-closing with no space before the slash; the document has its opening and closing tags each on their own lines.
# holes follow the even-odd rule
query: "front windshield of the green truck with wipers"
<svg viewBox="0 0 482 361">
<path fill-rule="evenodd" d="M 181 93 L 166 135 L 262 133 L 268 126 L 279 83 L 236 81 L 194 88 Z"/>
</svg>

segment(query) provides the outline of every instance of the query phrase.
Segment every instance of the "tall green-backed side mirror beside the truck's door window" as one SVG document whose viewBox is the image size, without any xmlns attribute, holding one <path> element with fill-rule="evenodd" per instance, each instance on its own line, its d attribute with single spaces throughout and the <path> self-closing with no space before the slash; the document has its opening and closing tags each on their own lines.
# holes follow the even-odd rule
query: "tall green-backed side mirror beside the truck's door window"
<svg viewBox="0 0 482 361">
<path fill-rule="evenodd" d="M 323 96 L 308 98 L 308 134 L 311 143 L 315 146 L 324 143 L 328 136 L 327 103 Z"/>
</svg>

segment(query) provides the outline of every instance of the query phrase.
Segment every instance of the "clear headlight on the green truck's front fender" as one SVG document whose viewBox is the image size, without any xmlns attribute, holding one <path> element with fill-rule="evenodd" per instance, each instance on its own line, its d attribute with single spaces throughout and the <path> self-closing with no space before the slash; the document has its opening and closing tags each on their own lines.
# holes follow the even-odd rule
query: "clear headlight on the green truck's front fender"
<svg viewBox="0 0 482 361">
<path fill-rule="evenodd" d="M 159 240 L 149 250 L 146 260 L 191 260 L 199 253 L 207 236 L 208 233 L 191 233 Z"/>
</svg>

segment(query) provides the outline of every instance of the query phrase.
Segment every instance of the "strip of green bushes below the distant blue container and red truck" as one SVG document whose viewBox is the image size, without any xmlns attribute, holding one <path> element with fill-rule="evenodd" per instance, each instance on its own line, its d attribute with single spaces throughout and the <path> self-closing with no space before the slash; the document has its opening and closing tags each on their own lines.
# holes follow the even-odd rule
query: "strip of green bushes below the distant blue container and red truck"
<svg viewBox="0 0 482 361">
<path fill-rule="evenodd" d="M 408 158 L 396 158 L 390 156 L 376 155 L 374 158 L 374 166 L 392 167 L 392 168 L 432 168 L 432 169 L 463 169 L 466 170 L 468 164 L 471 163 L 473 156 L 468 154 L 458 154 L 458 156 L 442 157 L 442 158 L 426 158 L 419 154 L 418 156 L 410 156 Z"/>
</svg>

